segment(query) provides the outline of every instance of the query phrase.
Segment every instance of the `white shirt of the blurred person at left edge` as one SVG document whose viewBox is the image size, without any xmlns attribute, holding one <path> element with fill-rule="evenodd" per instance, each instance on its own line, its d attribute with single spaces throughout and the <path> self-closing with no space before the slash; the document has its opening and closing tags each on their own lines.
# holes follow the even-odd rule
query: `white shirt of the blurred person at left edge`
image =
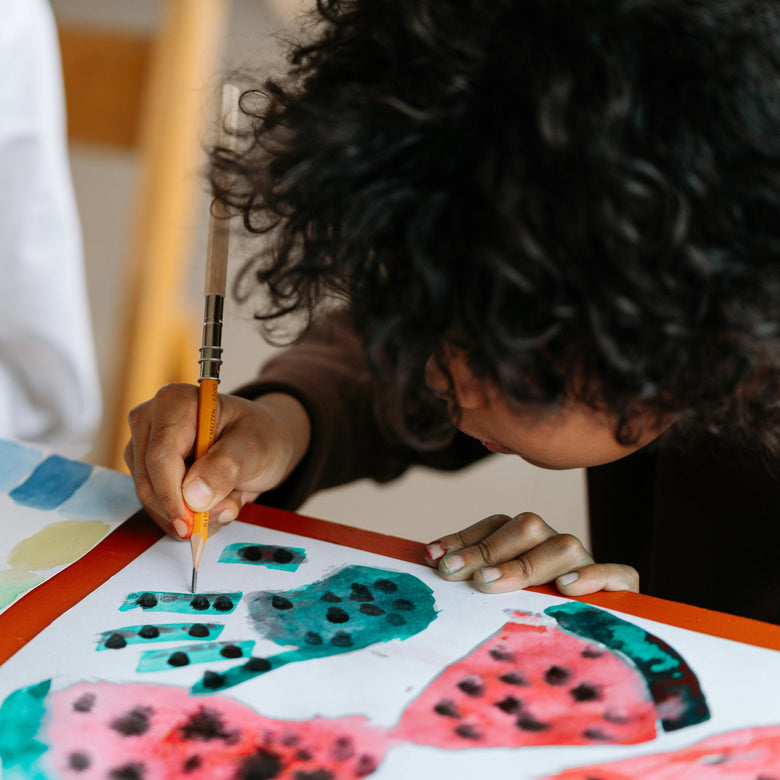
<svg viewBox="0 0 780 780">
<path fill-rule="evenodd" d="M 0 436 L 81 445 L 101 416 L 56 27 L 0 0 Z"/>
</svg>

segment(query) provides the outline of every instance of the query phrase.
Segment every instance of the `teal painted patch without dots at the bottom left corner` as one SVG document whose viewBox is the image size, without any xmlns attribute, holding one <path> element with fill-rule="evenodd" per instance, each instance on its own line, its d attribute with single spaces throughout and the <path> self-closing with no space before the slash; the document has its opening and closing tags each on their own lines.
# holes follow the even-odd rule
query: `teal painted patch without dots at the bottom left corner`
<svg viewBox="0 0 780 780">
<path fill-rule="evenodd" d="M 40 758 L 49 749 L 38 732 L 46 714 L 51 680 L 21 688 L 0 705 L 0 762 L 6 780 L 49 780 Z"/>
</svg>

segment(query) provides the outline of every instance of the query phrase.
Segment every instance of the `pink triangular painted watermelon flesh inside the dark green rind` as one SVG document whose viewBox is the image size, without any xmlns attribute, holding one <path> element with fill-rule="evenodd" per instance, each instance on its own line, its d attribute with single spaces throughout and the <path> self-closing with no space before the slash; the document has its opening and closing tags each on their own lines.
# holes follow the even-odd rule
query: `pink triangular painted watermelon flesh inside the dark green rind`
<svg viewBox="0 0 780 780">
<path fill-rule="evenodd" d="M 656 718 L 624 656 L 518 615 L 436 678 L 391 734 L 448 749 L 632 744 L 655 737 Z"/>
</svg>

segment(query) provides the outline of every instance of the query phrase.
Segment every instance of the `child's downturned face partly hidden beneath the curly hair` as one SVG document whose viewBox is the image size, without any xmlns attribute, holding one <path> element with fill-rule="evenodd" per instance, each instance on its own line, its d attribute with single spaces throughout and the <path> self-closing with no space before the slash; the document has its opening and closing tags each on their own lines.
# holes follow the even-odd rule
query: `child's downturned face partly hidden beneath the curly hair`
<svg viewBox="0 0 780 780">
<path fill-rule="evenodd" d="M 614 415 L 576 401 L 564 401 L 541 412 L 518 411 L 507 404 L 494 384 L 474 376 L 463 353 L 453 351 L 447 367 L 451 390 L 433 359 L 428 361 L 425 379 L 453 411 L 458 410 L 458 428 L 493 452 L 519 455 L 543 468 L 598 466 L 619 460 L 649 444 L 673 422 L 652 424 L 648 416 L 642 435 L 635 443 L 624 445 L 615 438 Z"/>
</svg>

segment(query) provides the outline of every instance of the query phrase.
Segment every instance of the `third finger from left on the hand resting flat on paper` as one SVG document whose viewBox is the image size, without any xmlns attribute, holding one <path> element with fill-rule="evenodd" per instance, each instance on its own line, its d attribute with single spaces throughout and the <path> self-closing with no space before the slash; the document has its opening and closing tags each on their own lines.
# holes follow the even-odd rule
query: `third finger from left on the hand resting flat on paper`
<svg viewBox="0 0 780 780">
<path fill-rule="evenodd" d="M 483 593 L 506 593 L 544 585 L 592 563 L 593 558 L 576 536 L 555 534 L 515 560 L 477 570 L 474 586 Z"/>
</svg>

